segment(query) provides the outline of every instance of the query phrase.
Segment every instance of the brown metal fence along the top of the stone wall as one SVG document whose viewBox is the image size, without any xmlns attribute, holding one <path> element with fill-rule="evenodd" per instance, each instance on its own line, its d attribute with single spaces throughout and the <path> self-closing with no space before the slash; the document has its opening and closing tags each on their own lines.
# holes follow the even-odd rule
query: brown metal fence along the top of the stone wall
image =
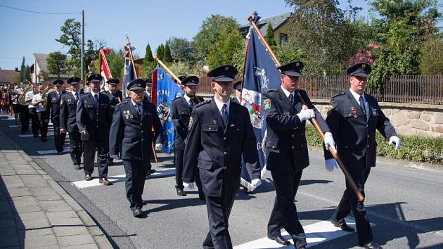
<svg viewBox="0 0 443 249">
<path fill-rule="evenodd" d="M 300 88 L 307 91 L 310 98 L 330 99 L 349 89 L 349 79 L 345 75 L 302 77 Z M 210 78 L 200 78 L 198 92 L 214 93 L 210 87 Z M 386 79 L 382 92 L 368 94 L 383 102 L 443 104 L 443 75 L 392 76 Z"/>
</svg>

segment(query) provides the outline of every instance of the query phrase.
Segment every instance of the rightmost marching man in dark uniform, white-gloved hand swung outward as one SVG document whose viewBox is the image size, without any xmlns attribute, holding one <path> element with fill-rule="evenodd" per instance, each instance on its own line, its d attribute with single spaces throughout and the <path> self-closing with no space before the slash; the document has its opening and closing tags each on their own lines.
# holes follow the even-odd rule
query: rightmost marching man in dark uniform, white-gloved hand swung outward
<svg viewBox="0 0 443 249">
<path fill-rule="evenodd" d="M 343 160 L 359 191 L 364 195 L 364 184 L 371 167 L 375 167 L 375 129 L 389 139 L 389 143 L 395 143 L 396 150 L 400 148 L 400 139 L 375 98 L 364 93 L 371 66 L 358 63 L 349 67 L 346 72 L 349 75 L 350 89 L 331 98 L 326 122 L 337 141 L 339 158 Z M 327 170 L 333 171 L 338 167 L 333 156 L 326 150 L 325 158 Z M 345 222 L 345 217 L 351 210 L 357 225 L 359 244 L 368 249 L 380 249 L 380 245 L 373 242 L 371 224 L 364 204 L 359 202 L 346 182 L 345 193 L 335 210 L 332 223 L 342 230 L 354 231 Z"/>
</svg>

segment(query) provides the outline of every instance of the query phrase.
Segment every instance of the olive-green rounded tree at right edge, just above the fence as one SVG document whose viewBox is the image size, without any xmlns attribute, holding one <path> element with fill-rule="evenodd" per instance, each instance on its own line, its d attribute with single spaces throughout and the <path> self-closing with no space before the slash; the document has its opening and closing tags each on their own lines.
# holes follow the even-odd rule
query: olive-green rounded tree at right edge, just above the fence
<svg viewBox="0 0 443 249">
<path fill-rule="evenodd" d="M 420 72 L 423 75 L 443 75 L 443 40 L 433 37 L 421 48 Z"/>
</svg>

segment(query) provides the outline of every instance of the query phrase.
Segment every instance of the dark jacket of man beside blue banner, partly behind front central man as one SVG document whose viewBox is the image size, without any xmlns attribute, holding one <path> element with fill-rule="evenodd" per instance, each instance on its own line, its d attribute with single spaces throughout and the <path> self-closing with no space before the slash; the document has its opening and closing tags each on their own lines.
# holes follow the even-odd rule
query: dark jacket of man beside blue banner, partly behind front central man
<svg viewBox="0 0 443 249">
<path fill-rule="evenodd" d="M 203 102 L 203 98 L 195 96 L 200 102 Z M 197 102 L 193 98 L 194 105 L 197 106 Z M 189 118 L 191 117 L 192 108 L 186 101 L 184 96 L 175 98 L 171 104 L 172 112 L 172 124 L 175 128 L 174 134 L 174 147 L 179 150 L 185 149 L 185 139 L 188 136 Z"/>
</svg>

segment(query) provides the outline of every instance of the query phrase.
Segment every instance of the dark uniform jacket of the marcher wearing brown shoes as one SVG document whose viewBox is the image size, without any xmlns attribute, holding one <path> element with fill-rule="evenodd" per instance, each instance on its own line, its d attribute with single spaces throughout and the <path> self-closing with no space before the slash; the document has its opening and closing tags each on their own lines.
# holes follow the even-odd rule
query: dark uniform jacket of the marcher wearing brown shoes
<svg viewBox="0 0 443 249">
<path fill-rule="evenodd" d="M 77 126 L 79 131 L 86 130 L 82 140 L 108 139 L 108 128 L 111 122 L 110 101 L 106 94 L 100 93 L 98 105 L 91 92 L 83 94 L 77 105 Z"/>
</svg>

